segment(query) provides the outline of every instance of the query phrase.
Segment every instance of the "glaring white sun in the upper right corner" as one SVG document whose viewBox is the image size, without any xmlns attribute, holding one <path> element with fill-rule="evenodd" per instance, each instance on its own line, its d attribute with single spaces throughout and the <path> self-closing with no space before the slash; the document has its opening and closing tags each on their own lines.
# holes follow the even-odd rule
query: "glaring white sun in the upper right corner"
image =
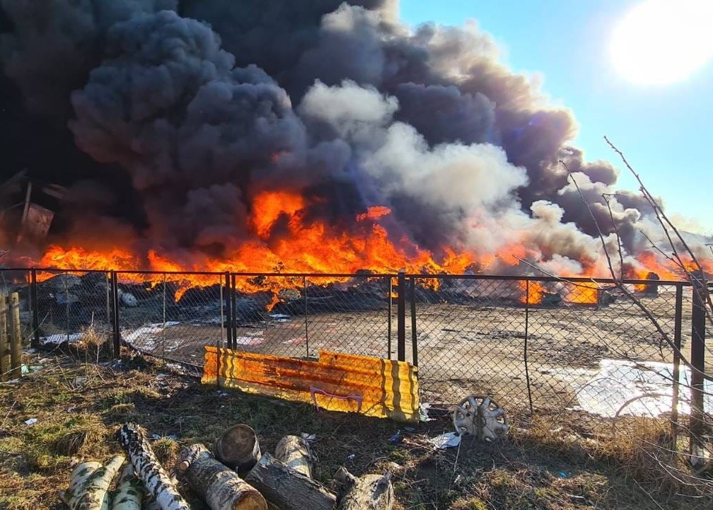
<svg viewBox="0 0 713 510">
<path fill-rule="evenodd" d="M 612 61 L 628 81 L 682 81 L 713 58 L 713 0 L 647 0 L 615 27 Z"/>
</svg>

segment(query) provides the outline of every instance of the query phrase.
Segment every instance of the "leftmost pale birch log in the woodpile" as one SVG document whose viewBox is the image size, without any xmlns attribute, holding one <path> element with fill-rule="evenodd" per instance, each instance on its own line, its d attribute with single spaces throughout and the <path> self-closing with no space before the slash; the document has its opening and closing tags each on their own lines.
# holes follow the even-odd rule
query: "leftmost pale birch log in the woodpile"
<svg viewBox="0 0 713 510">
<path fill-rule="evenodd" d="M 109 510 L 109 485 L 123 463 L 123 455 L 117 455 L 106 466 L 98 462 L 79 464 L 72 471 L 69 489 L 60 498 L 69 510 Z"/>
</svg>

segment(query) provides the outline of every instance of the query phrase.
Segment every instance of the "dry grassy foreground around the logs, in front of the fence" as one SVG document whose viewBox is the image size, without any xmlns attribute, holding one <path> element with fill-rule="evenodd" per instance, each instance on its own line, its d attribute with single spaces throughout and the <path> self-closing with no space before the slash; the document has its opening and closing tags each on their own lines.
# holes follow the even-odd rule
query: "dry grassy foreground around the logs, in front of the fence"
<svg viewBox="0 0 713 510">
<path fill-rule="evenodd" d="M 182 445 L 210 444 L 237 422 L 257 431 L 265 452 L 284 434 L 315 434 L 317 479 L 332 486 L 339 466 L 354 474 L 391 470 L 398 510 L 677 510 L 704 509 L 710 501 L 677 495 L 690 489 L 647 457 L 655 452 L 677 464 L 665 453 L 667 427 L 653 420 L 637 419 L 630 423 L 635 434 L 607 439 L 583 438 L 568 421 L 552 427 L 533 419 L 529 431 L 513 429 L 497 444 L 466 438 L 459 449 L 441 452 L 426 440 L 451 429 L 448 419 L 406 429 L 223 392 L 136 355 L 97 365 L 94 352 L 79 354 L 38 353 L 26 359 L 41 365 L 38 372 L 0 384 L 0 509 L 61 509 L 56 494 L 68 485 L 72 459 L 108 460 L 120 450 L 113 432 L 127 421 L 155 434 L 153 447 L 167 467 Z M 36 424 L 24 424 L 30 418 Z M 397 430 L 403 440 L 390 444 Z"/>
</svg>

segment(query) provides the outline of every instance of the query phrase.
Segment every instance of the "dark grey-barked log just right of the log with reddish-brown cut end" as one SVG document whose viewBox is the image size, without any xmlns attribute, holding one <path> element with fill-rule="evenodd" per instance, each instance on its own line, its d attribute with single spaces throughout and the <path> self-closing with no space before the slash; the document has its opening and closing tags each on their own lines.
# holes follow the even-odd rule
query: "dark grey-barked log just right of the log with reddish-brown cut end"
<svg viewBox="0 0 713 510">
<path fill-rule="evenodd" d="M 322 484 L 264 454 L 245 481 L 281 510 L 332 510 L 337 496 Z"/>
</svg>

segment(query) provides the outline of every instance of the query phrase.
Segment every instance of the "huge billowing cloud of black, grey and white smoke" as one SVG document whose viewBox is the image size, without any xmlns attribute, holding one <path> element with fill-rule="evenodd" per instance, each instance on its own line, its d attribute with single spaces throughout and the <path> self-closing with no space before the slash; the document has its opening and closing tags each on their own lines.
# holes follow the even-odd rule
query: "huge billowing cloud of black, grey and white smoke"
<svg viewBox="0 0 713 510">
<path fill-rule="evenodd" d="M 473 22 L 411 30 L 391 0 L 0 6 L 0 85 L 24 101 L 21 130 L 31 140 L 38 119 L 91 156 L 64 176 L 83 238 L 112 228 L 220 255 L 250 238 L 257 193 L 289 189 L 309 198 L 307 220 L 342 229 L 386 205 L 394 240 L 436 253 L 524 242 L 551 270 L 582 272 L 597 224 L 627 253 L 645 245 L 645 200 L 569 146 L 573 114 L 499 63 Z M 31 143 L 8 148 L 21 160 Z"/>
</svg>

